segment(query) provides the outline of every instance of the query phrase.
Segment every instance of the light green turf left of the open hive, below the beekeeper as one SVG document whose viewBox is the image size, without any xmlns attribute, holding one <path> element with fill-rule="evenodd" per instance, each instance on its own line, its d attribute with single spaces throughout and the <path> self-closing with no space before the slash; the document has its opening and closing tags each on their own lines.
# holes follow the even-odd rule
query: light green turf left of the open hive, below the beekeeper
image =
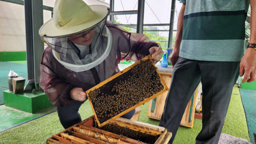
<svg viewBox="0 0 256 144">
<path fill-rule="evenodd" d="M 82 120 L 93 115 L 89 101 L 80 107 L 79 113 Z M 54 112 L 0 133 L 0 144 L 42 144 L 63 130 L 58 113 Z"/>
</svg>

